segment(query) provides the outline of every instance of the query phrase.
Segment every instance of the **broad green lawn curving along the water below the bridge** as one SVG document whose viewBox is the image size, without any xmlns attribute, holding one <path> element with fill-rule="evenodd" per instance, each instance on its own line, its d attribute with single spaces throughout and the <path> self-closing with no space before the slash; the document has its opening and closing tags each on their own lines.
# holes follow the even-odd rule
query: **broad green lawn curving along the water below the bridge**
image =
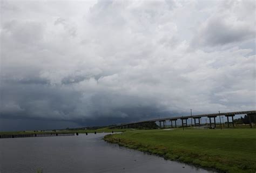
<svg viewBox="0 0 256 173">
<path fill-rule="evenodd" d="M 104 139 L 204 168 L 256 171 L 256 129 L 131 130 Z"/>
</svg>

